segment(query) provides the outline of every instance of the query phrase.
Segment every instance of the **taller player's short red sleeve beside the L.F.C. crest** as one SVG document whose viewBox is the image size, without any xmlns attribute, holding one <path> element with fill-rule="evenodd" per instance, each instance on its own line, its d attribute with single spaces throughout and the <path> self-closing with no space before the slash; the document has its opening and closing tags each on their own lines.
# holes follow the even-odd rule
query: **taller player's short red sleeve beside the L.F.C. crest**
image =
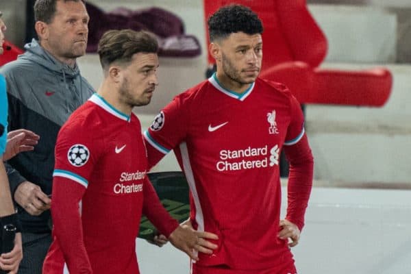
<svg viewBox="0 0 411 274">
<path fill-rule="evenodd" d="M 301 105 L 294 96 L 290 96 L 290 125 L 288 125 L 284 145 L 295 145 L 305 133 L 304 116 Z"/>
</svg>

